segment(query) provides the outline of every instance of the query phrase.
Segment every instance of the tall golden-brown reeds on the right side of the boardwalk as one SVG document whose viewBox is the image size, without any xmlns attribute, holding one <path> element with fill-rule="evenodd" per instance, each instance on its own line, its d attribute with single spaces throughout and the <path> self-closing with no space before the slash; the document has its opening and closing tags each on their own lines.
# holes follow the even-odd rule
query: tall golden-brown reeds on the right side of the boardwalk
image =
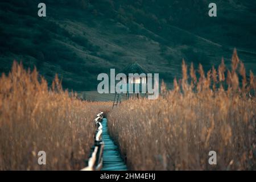
<svg viewBox="0 0 256 182">
<path fill-rule="evenodd" d="M 125 101 L 108 114 L 110 135 L 127 166 L 134 170 L 255 170 L 253 73 L 246 77 L 236 51 L 230 70 L 224 61 L 207 73 L 201 65 L 195 71 L 183 62 L 182 68 L 182 80 L 174 80 L 173 90 L 166 90 L 163 83 L 158 100 Z M 212 150 L 217 152 L 217 165 L 208 163 Z"/>
</svg>

